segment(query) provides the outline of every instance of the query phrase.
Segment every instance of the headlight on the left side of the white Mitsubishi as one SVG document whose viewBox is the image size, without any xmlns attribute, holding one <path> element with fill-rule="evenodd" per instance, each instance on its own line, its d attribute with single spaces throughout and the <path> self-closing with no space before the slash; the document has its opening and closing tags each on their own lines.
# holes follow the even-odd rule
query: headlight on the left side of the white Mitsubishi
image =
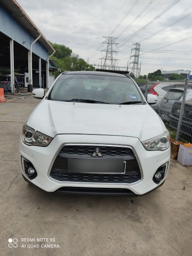
<svg viewBox="0 0 192 256">
<path fill-rule="evenodd" d="M 48 146 L 53 138 L 35 131 L 25 123 L 22 130 L 22 139 L 24 144 L 28 146 Z"/>
</svg>

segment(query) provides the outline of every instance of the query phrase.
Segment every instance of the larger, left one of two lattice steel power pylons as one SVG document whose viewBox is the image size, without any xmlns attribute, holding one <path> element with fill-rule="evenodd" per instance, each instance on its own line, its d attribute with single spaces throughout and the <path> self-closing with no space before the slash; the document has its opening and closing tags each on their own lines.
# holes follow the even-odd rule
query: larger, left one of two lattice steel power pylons
<svg viewBox="0 0 192 256">
<path fill-rule="evenodd" d="M 117 61 L 117 59 L 113 57 L 113 53 L 117 53 L 118 51 L 113 49 L 113 45 L 118 45 L 118 43 L 115 42 L 115 39 L 117 39 L 117 37 L 104 38 L 106 39 L 106 41 L 104 41 L 103 44 L 107 44 L 107 49 L 102 50 L 106 51 L 105 58 L 101 58 L 101 60 L 105 60 L 102 69 L 115 70 L 115 61 Z"/>
</svg>

